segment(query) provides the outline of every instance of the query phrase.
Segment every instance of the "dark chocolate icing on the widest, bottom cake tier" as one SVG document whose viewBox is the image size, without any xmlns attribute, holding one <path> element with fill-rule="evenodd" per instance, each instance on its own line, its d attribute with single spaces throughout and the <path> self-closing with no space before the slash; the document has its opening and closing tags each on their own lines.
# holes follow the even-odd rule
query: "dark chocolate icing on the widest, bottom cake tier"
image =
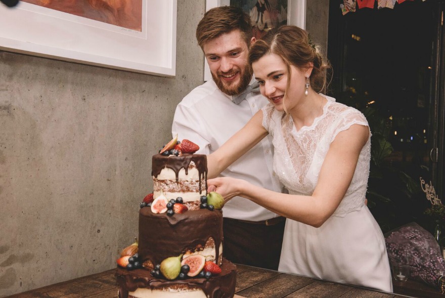
<svg viewBox="0 0 445 298">
<path fill-rule="evenodd" d="M 235 294 L 236 266 L 227 260 L 222 261 L 221 273 L 212 276 L 209 280 L 205 278 L 187 278 L 185 280 L 165 280 L 151 276 L 144 269 L 128 271 L 117 268 L 116 280 L 119 286 L 119 298 L 127 298 L 128 292 L 136 291 L 138 288 L 162 289 L 164 287 L 186 286 L 187 288 L 201 289 L 210 298 L 231 298 Z"/>
</svg>

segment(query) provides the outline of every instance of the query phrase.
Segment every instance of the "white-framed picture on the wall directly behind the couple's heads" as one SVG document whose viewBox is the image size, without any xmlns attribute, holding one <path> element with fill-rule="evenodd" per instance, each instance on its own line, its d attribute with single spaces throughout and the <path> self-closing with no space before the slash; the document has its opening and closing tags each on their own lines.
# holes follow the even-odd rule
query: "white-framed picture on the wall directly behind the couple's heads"
<svg viewBox="0 0 445 298">
<path fill-rule="evenodd" d="M 206 11 L 225 5 L 239 7 L 250 15 L 252 34 L 256 38 L 282 24 L 306 27 L 306 0 L 206 0 Z M 212 77 L 204 59 L 204 80 L 209 79 Z"/>
</svg>

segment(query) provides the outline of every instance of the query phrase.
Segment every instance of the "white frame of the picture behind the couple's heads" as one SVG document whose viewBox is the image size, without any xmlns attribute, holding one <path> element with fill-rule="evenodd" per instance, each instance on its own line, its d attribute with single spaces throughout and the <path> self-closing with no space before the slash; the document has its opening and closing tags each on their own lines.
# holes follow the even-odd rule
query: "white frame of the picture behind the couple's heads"
<svg viewBox="0 0 445 298">
<path fill-rule="evenodd" d="M 205 10 L 219 6 L 230 6 L 230 0 L 206 0 Z M 306 0 L 287 1 L 287 24 L 306 29 Z M 212 79 L 207 60 L 204 58 L 204 81 Z"/>
</svg>

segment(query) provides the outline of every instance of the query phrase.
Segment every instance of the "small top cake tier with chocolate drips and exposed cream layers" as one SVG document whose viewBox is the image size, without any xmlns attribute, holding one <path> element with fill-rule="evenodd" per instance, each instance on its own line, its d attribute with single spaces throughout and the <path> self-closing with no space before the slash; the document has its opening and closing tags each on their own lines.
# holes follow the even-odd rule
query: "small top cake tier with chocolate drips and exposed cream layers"
<svg viewBox="0 0 445 298">
<path fill-rule="evenodd" d="M 207 194 L 207 158 L 203 154 L 182 156 L 155 154 L 152 159 L 153 197 L 183 198 L 190 210 L 199 209 Z"/>
</svg>

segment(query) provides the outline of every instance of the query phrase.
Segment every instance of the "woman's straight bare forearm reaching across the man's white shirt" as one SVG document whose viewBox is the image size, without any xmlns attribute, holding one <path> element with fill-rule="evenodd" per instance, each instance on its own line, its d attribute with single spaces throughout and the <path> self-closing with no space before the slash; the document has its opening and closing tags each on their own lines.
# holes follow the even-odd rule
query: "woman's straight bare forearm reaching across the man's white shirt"
<svg viewBox="0 0 445 298">
<path fill-rule="evenodd" d="M 267 135 L 268 132 L 262 126 L 262 111 L 259 110 L 241 130 L 227 140 L 218 150 L 207 156 L 207 177 L 217 177 L 219 173 Z"/>
</svg>

